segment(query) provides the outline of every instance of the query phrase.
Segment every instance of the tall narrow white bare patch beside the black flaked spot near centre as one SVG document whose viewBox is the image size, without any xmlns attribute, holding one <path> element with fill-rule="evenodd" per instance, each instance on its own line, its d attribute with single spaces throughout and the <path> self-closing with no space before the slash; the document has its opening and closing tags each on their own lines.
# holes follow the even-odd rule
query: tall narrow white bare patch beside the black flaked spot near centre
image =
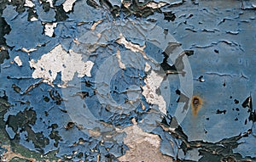
<svg viewBox="0 0 256 162">
<path fill-rule="evenodd" d="M 156 93 L 156 90 L 160 87 L 163 79 L 162 76 L 152 70 L 150 75 L 144 79 L 146 85 L 143 86 L 143 96 L 148 103 L 158 105 L 160 112 L 166 115 L 166 101 L 162 96 Z"/>
</svg>

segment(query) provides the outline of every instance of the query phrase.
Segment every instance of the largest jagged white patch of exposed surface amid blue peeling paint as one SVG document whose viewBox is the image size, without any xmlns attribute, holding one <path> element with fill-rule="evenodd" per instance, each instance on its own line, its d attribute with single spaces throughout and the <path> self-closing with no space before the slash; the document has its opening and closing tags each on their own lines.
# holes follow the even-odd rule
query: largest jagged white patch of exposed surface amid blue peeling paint
<svg viewBox="0 0 256 162">
<path fill-rule="evenodd" d="M 90 70 L 94 65 L 91 61 L 84 63 L 82 54 L 74 53 L 73 50 L 69 50 L 67 53 L 61 45 L 44 54 L 37 62 L 32 59 L 29 64 L 35 69 L 32 77 L 35 79 L 43 78 L 44 82 L 51 86 L 58 72 L 61 72 L 61 81 L 64 81 L 65 85 L 68 81 L 73 80 L 75 73 L 78 73 L 79 77 L 84 75 L 90 77 Z"/>
</svg>

